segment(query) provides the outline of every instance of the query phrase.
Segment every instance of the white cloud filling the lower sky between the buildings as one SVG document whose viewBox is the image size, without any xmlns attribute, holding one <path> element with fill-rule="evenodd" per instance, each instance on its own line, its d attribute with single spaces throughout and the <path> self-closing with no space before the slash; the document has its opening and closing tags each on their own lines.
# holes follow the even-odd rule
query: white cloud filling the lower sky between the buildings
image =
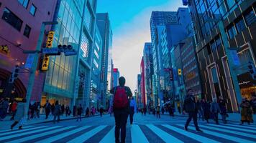
<svg viewBox="0 0 256 143">
<path fill-rule="evenodd" d="M 176 0 L 175 0 L 176 1 Z M 137 14 L 129 23 L 123 23 L 113 31 L 113 61 L 120 75 L 127 79 L 127 86 L 132 92 L 136 89 L 137 74 L 140 74 L 145 42 L 150 38 L 150 16 L 152 11 L 177 11 L 182 6 L 181 0 L 173 0 L 162 6 L 152 6 Z"/>
</svg>

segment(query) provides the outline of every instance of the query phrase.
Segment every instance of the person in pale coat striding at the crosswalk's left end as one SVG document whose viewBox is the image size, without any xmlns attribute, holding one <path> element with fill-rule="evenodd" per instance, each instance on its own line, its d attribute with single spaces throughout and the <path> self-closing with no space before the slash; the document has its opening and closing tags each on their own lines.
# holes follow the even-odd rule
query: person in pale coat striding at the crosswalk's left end
<svg viewBox="0 0 256 143">
<path fill-rule="evenodd" d="M 19 102 L 19 104 L 17 104 L 17 113 L 14 116 L 14 123 L 11 125 L 11 129 L 14 128 L 14 126 L 16 126 L 19 122 L 19 129 L 22 129 L 23 126 L 23 120 L 24 120 L 24 115 L 25 113 L 25 107 L 26 107 L 26 99 L 22 99 L 22 102 Z"/>
</svg>

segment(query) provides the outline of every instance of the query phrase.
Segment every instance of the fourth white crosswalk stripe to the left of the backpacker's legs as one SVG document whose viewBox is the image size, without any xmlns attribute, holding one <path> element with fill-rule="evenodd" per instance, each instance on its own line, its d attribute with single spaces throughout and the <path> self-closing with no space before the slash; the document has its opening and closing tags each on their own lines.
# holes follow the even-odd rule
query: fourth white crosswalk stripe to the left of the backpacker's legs
<svg viewBox="0 0 256 143">
<path fill-rule="evenodd" d="M 35 134 L 35 135 L 29 136 L 29 137 L 24 137 L 24 138 L 22 138 L 22 139 L 12 140 L 11 142 L 7 142 L 7 143 L 12 143 L 12 142 L 15 142 L 15 143 L 26 142 L 26 141 L 31 140 L 31 139 L 36 139 L 36 138 L 38 138 L 38 137 L 47 136 L 47 135 L 49 135 L 49 134 L 54 134 L 54 133 L 56 133 L 56 132 L 61 132 L 61 131 L 64 131 L 64 130 L 66 130 L 66 129 L 70 129 L 70 128 L 73 128 L 73 127 L 76 127 L 76 126 L 69 126 L 69 127 L 64 127 L 64 128 L 52 130 L 52 131 L 50 131 L 50 132 L 43 132 L 43 133 L 41 133 L 41 134 Z"/>
</svg>

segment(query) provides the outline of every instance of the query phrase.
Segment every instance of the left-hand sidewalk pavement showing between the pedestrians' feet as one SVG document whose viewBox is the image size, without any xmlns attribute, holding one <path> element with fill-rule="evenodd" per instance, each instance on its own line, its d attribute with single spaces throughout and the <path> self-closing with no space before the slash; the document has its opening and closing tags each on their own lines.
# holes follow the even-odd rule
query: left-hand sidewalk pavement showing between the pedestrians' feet
<svg viewBox="0 0 256 143">
<path fill-rule="evenodd" d="M 99 114 L 95 114 L 94 116 L 90 116 L 90 117 L 95 117 L 95 116 L 99 116 Z M 86 117 L 82 116 L 82 118 L 86 118 Z M 11 119 L 11 116 L 6 116 L 4 118 L 4 121 L 0 121 L 0 131 L 2 129 L 10 129 L 11 125 L 14 123 L 14 120 L 11 121 L 10 119 Z M 66 117 L 65 114 L 63 114 L 63 116 L 60 116 L 60 121 L 65 121 L 70 119 L 77 119 L 77 117 L 73 117 L 73 115 Z M 49 115 L 48 119 L 45 119 L 45 114 L 40 114 L 40 118 L 27 120 L 27 123 L 24 124 L 24 126 L 31 125 L 31 124 L 47 123 L 47 122 L 53 122 L 52 114 Z M 14 128 L 17 128 L 17 127 L 19 126 L 17 125 Z"/>
</svg>

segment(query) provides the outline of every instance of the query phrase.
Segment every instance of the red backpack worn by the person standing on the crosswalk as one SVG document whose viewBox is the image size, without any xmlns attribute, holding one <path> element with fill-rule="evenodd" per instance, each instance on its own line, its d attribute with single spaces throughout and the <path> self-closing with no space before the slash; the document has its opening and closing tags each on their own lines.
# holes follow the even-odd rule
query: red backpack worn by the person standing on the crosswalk
<svg viewBox="0 0 256 143">
<path fill-rule="evenodd" d="M 114 92 L 114 104 L 115 109 L 122 109 L 128 106 L 127 92 L 124 87 L 116 87 Z"/>
</svg>

